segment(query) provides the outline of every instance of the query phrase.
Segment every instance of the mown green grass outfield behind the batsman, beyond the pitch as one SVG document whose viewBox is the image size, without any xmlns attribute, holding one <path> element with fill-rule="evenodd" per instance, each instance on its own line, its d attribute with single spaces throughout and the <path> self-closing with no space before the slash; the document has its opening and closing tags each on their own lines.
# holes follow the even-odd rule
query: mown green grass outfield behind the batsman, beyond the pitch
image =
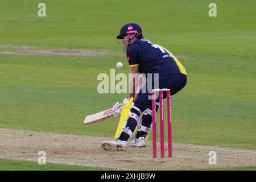
<svg viewBox="0 0 256 182">
<path fill-rule="evenodd" d="M 256 149 L 256 2 L 1 1 L 1 45 L 75 48 L 101 56 L 0 54 L 0 127 L 114 137 L 118 119 L 83 126 L 85 115 L 108 109 L 127 94 L 98 94 L 99 73 L 129 72 L 115 36 L 127 22 L 176 55 L 188 84 L 172 97 L 173 141 Z M 136 5 L 136 6 L 135 6 Z M 236 146 L 236 144 L 238 146 Z M 244 144 L 244 145 L 243 145 Z"/>
</svg>

